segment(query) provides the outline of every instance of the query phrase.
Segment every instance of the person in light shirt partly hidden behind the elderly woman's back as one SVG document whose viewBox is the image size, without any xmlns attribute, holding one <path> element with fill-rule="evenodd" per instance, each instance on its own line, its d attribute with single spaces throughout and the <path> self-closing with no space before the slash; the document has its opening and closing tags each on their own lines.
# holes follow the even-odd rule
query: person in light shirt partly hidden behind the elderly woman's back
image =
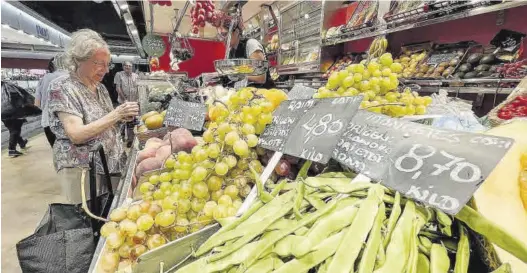
<svg viewBox="0 0 527 273">
<path fill-rule="evenodd" d="M 44 128 L 44 133 L 46 134 L 46 138 L 52 148 L 55 143 L 55 134 L 53 134 L 49 128 L 49 86 L 51 82 L 67 76 L 68 72 L 66 65 L 64 64 L 64 57 L 61 53 L 49 61 L 48 73 L 38 82 L 35 93 L 35 105 L 42 109 L 42 119 L 40 124 L 42 125 L 42 128 Z"/>
</svg>

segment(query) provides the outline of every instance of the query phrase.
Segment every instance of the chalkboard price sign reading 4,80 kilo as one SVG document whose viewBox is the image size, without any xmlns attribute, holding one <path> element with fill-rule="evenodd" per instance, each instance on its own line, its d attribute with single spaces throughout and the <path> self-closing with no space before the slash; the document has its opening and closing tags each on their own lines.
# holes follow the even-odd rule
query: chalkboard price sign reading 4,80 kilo
<svg viewBox="0 0 527 273">
<path fill-rule="evenodd" d="M 362 96 L 284 101 L 259 145 L 325 164 L 361 101 Z"/>
</svg>

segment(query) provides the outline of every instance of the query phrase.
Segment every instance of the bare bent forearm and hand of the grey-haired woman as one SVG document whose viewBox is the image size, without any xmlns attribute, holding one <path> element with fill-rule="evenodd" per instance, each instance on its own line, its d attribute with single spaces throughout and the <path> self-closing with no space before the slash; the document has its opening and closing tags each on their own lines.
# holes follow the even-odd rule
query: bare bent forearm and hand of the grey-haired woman
<svg viewBox="0 0 527 273">
<path fill-rule="evenodd" d="M 108 130 L 120 120 L 139 114 L 139 106 L 135 102 L 124 103 L 106 116 L 84 124 L 82 118 L 66 112 L 58 112 L 60 122 L 64 126 L 66 135 L 73 144 L 83 144 Z"/>
</svg>

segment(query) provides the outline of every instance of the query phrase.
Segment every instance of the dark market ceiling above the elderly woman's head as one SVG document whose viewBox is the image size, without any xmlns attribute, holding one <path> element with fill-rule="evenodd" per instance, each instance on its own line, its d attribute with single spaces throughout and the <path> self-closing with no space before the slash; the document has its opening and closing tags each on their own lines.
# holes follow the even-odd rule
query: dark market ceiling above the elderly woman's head
<svg viewBox="0 0 527 273">
<path fill-rule="evenodd" d="M 126 2 L 139 35 L 143 37 L 145 24 L 141 1 Z M 137 54 L 126 25 L 119 18 L 111 1 L 21 1 L 21 3 L 69 32 L 82 28 L 97 31 L 110 44 L 112 53 Z"/>
</svg>

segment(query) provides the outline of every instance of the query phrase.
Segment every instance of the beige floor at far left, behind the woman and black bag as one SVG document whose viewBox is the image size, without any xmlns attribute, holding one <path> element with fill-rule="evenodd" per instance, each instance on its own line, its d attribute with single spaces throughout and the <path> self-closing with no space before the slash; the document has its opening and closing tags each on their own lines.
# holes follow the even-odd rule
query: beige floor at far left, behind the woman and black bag
<svg viewBox="0 0 527 273">
<path fill-rule="evenodd" d="M 63 202 L 44 134 L 29 140 L 26 154 L 2 151 L 2 272 L 22 272 L 15 245 L 33 233 L 49 203 Z"/>
</svg>

